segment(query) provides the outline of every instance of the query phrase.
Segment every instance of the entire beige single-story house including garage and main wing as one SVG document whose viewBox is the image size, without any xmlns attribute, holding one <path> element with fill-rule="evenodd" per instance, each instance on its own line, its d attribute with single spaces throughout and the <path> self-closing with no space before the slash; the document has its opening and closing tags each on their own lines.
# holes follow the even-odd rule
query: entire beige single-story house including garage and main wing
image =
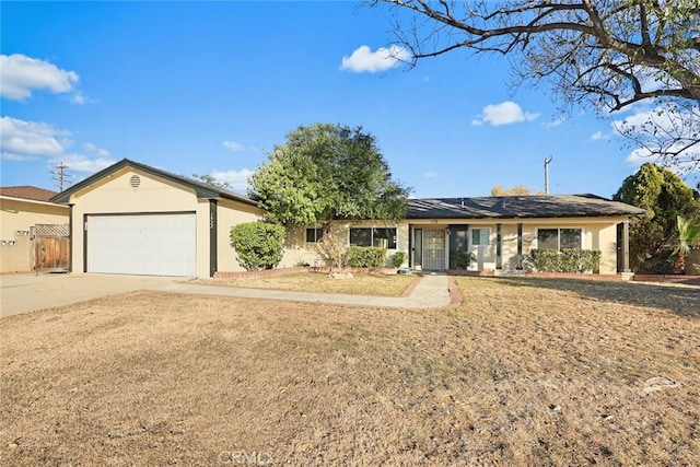
<svg viewBox="0 0 700 467">
<path fill-rule="evenodd" d="M 231 229 L 265 212 L 242 195 L 125 159 L 56 195 L 70 208 L 71 271 L 212 277 L 241 271 Z M 644 211 L 593 195 L 411 199 L 407 219 L 338 222 L 348 245 L 383 246 L 387 266 L 451 267 L 451 252 L 472 252 L 474 270 L 523 268 L 533 248 L 602 252 L 600 273 L 629 271 L 628 225 Z M 320 260 L 320 231 L 288 233 L 280 267 Z"/>
</svg>

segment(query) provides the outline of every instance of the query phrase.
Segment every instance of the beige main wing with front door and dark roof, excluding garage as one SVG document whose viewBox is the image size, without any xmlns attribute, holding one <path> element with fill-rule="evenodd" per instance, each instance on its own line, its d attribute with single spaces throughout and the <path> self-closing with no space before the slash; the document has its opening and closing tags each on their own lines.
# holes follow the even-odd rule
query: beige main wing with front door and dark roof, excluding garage
<svg viewBox="0 0 700 467">
<path fill-rule="evenodd" d="M 599 273 L 629 272 L 629 219 L 643 210 L 594 195 L 411 199 L 407 219 L 386 224 L 339 222 L 348 245 L 384 246 L 404 266 L 452 269 L 456 248 L 474 253 L 475 271 L 509 273 L 526 268 L 533 248 L 600 250 Z M 292 234 L 288 264 L 320 260 L 318 229 Z"/>
</svg>

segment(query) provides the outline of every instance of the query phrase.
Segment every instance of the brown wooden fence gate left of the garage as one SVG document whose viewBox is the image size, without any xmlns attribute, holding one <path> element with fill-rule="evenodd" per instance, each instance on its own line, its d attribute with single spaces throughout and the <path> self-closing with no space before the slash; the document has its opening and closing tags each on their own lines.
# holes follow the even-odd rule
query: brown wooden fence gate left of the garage
<svg viewBox="0 0 700 467">
<path fill-rule="evenodd" d="M 67 272 L 70 229 L 68 224 L 36 224 L 32 227 L 32 265 L 39 271 Z"/>
</svg>

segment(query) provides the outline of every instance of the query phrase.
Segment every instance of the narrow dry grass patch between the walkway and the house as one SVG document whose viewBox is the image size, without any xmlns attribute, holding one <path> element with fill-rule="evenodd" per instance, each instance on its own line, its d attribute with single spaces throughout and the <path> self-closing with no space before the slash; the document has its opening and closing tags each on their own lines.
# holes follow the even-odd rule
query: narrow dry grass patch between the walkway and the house
<svg viewBox="0 0 700 467">
<path fill-rule="evenodd" d="M 418 280 L 417 276 L 401 275 L 360 273 L 354 275 L 352 279 L 332 279 L 324 272 L 298 272 L 269 278 L 196 279 L 189 282 L 255 289 L 399 296 L 416 280 Z"/>
</svg>

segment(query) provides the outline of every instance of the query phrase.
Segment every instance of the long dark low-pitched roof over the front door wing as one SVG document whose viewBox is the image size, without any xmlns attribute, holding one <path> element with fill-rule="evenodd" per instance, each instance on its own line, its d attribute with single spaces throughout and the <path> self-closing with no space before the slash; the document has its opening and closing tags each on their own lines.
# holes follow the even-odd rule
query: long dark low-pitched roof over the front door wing
<svg viewBox="0 0 700 467">
<path fill-rule="evenodd" d="M 595 195 L 409 199 L 408 219 L 517 219 L 641 215 L 643 209 Z"/>
</svg>

